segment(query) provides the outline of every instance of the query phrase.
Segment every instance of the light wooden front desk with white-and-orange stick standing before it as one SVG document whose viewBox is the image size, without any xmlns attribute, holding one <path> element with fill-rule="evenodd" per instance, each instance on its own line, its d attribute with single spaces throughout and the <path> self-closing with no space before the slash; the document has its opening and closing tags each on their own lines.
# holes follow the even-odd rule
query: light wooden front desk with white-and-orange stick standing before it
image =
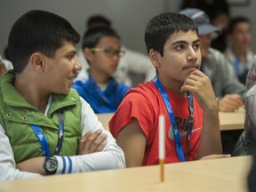
<svg viewBox="0 0 256 192">
<path fill-rule="evenodd" d="M 1 192 L 170 192 L 247 191 L 251 156 L 165 164 L 165 181 L 159 181 L 159 166 L 85 172 L 41 179 L 0 182 Z"/>
</svg>

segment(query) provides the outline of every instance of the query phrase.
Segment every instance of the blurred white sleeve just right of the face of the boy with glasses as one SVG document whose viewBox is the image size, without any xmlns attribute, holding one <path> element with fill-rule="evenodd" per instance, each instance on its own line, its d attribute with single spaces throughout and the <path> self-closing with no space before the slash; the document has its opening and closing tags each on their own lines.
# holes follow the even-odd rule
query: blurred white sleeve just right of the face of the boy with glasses
<svg viewBox="0 0 256 192">
<path fill-rule="evenodd" d="M 130 72 L 145 76 L 145 82 L 156 76 L 156 69 L 148 56 L 125 48 L 124 60 L 128 63 Z"/>
</svg>

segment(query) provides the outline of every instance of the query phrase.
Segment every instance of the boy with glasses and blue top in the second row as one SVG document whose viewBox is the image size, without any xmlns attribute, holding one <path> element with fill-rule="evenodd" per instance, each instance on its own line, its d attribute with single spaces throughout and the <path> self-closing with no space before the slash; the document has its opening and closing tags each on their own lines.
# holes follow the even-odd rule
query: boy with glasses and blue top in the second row
<svg viewBox="0 0 256 192">
<path fill-rule="evenodd" d="M 120 57 L 124 55 L 120 37 L 112 28 L 90 28 L 84 33 L 83 50 L 90 66 L 87 69 L 88 78 L 77 80 L 72 87 L 95 113 L 113 113 L 130 89 L 112 77 Z"/>
</svg>

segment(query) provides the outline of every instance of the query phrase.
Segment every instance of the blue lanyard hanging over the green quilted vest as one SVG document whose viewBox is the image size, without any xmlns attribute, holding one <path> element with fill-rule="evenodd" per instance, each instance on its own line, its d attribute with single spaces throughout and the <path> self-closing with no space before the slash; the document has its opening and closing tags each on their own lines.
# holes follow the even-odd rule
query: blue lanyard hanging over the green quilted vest
<svg viewBox="0 0 256 192">
<path fill-rule="evenodd" d="M 60 154 L 60 148 L 62 146 L 63 142 L 63 134 L 64 134 L 64 116 L 63 116 L 63 111 L 58 110 L 58 121 L 59 121 L 59 137 L 58 137 L 58 144 L 55 149 L 54 155 L 59 155 Z M 35 132 L 37 139 L 40 141 L 41 148 L 43 151 L 43 156 L 51 156 L 50 154 L 50 149 L 48 145 L 48 141 L 46 140 L 44 133 L 40 129 L 40 127 L 36 124 L 31 124 L 32 130 Z"/>
</svg>

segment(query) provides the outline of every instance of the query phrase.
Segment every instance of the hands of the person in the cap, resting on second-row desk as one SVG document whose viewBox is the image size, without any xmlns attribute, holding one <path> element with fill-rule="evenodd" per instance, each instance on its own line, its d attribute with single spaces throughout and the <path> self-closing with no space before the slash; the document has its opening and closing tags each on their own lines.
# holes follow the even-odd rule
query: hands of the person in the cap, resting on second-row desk
<svg viewBox="0 0 256 192">
<path fill-rule="evenodd" d="M 223 112 L 234 112 L 242 106 L 244 102 L 239 94 L 227 94 L 218 102 L 219 110 Z"/>
</svg>

